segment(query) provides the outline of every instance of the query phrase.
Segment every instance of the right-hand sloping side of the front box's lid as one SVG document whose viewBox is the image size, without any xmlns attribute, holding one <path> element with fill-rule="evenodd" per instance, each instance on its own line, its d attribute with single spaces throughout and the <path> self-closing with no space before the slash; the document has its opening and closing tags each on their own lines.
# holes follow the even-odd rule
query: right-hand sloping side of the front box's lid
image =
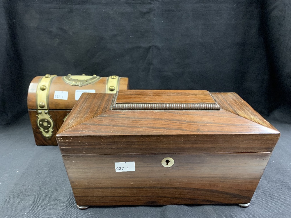
<svg viewBox="0 0 291 218">
<path fill-rule="evenodd" d="M 211 93 L 211 95 L 222 109 L 276 130 L 274 126 L 265 120 L 264 117 L 256 112 L 248 103 L 246 103 L 246 101 L 244 101 L 244 99 L 239 97 L 239 95 L 235 92 L 216 92 Z"/>
</svg>

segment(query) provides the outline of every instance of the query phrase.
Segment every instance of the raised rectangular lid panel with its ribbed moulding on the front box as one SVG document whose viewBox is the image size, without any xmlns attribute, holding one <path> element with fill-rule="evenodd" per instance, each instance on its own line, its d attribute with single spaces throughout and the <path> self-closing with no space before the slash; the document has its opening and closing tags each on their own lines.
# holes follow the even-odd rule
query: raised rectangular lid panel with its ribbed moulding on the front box
<svg viewBox="0 0 291 218">
<path fill-rule="evenodd" d="M 204 90 L 120 90 L 112 110 L 219 110 Z"/>
</svg>

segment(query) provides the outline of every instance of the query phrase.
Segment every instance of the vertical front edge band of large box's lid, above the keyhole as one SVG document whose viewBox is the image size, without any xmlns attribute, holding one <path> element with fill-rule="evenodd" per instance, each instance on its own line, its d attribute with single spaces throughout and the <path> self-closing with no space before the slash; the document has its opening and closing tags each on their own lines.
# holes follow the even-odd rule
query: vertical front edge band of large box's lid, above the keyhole
<svg viewBox="0 0 291 218">
<path fill-rule="evenodd" d="M 272 152 L 278 135 L 57 136 L 63 155 Z"/>
</svg>

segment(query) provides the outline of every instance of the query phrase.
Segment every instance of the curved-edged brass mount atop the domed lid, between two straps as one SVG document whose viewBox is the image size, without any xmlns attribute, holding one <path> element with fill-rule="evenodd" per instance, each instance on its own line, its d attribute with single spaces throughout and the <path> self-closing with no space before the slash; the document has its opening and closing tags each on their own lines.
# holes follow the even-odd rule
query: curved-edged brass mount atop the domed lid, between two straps
<svg viewBox="0 0 291 218">
<path fill-rule="evenodd" d="M 95 74 L 93 76 L 86 76 L 85 74 L 72 76 L 71 74 L 68 74 L 68 76 L 63 76 L 62 79 L 65 83 L 68 83 L 72 86 L 78 85 L 81 87 L 83 85 L 95 83 L 100 80 L 101 77 L 96 76 Z"/>
</svg>

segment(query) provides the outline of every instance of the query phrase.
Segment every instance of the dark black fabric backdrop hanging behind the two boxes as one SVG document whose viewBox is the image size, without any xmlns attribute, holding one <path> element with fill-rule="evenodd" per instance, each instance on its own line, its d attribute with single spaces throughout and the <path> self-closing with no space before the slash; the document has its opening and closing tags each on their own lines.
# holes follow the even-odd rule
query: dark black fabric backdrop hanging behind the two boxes
<svg viewBox="0 0 291 218">
<path fill-rule="evenodd" d="M 237 92 L 290 119 L 289 0 L 0 2 L 0 124 L 27 113 L 33 77 L 69 73 Z"/>
</svg>

